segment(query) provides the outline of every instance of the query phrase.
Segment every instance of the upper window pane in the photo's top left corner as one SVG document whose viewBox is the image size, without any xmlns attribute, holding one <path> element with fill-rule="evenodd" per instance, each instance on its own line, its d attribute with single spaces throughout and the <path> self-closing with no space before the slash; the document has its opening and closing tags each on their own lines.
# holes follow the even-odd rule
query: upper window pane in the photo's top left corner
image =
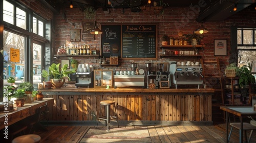
<svg viewBox="0 0 256 143">
<path fill-rule="evenodd" d="M 4 11 L 3 11 L 4 21 L 11 23 L 13 25 L 14 24 L 14 18 L 13 18 L 14 17 L 14 14 L 13 14 L 14 6 L 12 4 L 4 1 L 3 8 L 4 8 Z"/>
</svg>

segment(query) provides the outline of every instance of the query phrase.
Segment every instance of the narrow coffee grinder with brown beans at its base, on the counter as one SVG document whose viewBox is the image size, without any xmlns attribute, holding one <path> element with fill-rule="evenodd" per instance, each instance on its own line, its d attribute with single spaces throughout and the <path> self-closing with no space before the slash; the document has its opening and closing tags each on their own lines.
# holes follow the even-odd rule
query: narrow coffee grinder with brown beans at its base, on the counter
<svg viewBox="0 0 256 143">
<path fill-rule="evenodd" d="M 156 81 L 156 71 L 152 71 L 152 67 L 153 67 L 153 63 L 151 62 L 147 62 L 146 63 L 146 87 L 147 88 L 151 88 L 151 89 L 154 89 L 156 88 L 156 84 L 155 84 L 155 81 Z"/>
</svg>

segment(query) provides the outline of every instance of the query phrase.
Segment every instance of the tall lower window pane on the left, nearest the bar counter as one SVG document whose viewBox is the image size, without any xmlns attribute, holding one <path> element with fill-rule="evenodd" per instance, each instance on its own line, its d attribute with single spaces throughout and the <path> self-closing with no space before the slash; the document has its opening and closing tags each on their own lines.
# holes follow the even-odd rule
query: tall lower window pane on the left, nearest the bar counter
<svg viewBox="0 0 256 143">
<path fill-rule="evenodd" d="M 42 46 L 33 43 L 33 86 L 37 88 L 41 82 L 41 49 Z"/>
</svg>

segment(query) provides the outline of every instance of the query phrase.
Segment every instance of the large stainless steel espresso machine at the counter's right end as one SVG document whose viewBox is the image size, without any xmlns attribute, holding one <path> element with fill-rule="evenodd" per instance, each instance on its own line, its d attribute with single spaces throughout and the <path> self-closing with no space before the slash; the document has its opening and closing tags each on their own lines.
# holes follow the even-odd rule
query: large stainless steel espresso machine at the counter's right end
<svg viewBox="0 0 256 143">
<path fill-rule="evenodd" d="M 177 66 L 177 63 L 170 64 L 170 76 L 172 82 L 176 85 L 178 84 L 197 84 L 198 88 L 203 84 L 202 75 L 202 65 L 198 66 Z"/>
</svg>

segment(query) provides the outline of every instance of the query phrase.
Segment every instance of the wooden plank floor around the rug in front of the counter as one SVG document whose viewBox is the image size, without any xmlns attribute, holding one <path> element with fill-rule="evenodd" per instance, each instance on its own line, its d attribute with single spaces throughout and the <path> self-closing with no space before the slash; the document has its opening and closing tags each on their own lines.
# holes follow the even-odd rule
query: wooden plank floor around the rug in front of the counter
<svg viewBox="0 0 256 143">
<path fill-rule="evenodd" d="M 94 126 L 47 126 L 48 132 L 35 132 L 41 142 L 79 142 Z M 99 127 L 99 126 L 98 126 Z M 121 128 L 141 128 L 142 126 L 120 126 Z M 143 126 L 145 127 L 145 126 Z M 226 124 L 214 126 L 146 126 L 152 142 L 226 142 Z M 111 127 L 111 128 L 116 128 Z M 110 128 L 110 130 L 111 130 Z M 256 132 L 250 142 L 256 142 Z M 247 131 L 247 137 L 249 131 Z M 239 131 L 234 129 L 230 142 L 239 142 Z"/>
</svg>

